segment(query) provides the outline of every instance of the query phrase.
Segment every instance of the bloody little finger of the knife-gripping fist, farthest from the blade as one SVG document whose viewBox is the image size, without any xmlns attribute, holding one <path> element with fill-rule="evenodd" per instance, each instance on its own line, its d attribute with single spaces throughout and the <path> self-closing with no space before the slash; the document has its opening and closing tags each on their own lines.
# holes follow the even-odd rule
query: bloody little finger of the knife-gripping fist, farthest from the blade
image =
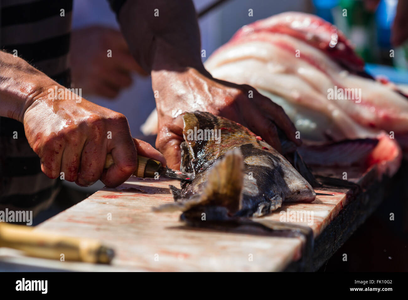
<svg viewBox="0 0 408 300">
<path fill-rule="evenodd" d="M 49 178 L 55 179 L 60 176 L 63 151 L 64 141 L 57 137 L 49 140 L 41 151 L 41 170 Z"/>
</svg>

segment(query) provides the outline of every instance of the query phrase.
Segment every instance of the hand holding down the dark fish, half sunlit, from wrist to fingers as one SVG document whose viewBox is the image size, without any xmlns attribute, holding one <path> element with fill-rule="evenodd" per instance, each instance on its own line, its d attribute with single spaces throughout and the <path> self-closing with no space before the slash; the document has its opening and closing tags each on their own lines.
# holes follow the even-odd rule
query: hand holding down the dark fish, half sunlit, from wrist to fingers
<svg viewBox="0 0 408 300">
<path fill-rule="evenodd" d="M 184 111 L 208 111 L 238 122 L 264 138 L 280 151 L 280 142 L 275 124 L 287 137 L 300 144 L 295 138 L 295 126 L 282 107 L 259 94 L 248 85 L 238 85 L 215 80 L 205 70 L 153 71 L 153 90 L 159 91 L 156 98 L 158 135 L 156 147 L 167 159 L 169 167 L 180 167 L 180 143 Z M 253 98 L 249 98 L 252 91 Z"/>
</svg>

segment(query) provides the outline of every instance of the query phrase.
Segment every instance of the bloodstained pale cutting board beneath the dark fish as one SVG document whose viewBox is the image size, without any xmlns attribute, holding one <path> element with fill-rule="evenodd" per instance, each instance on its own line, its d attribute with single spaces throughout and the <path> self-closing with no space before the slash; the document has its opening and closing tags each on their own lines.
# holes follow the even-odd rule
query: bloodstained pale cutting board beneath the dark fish
<svg viewBox="0 0 408 300">
<path fill-rule="evenodd" d="M 356 171 L 353 181 L 363 182 L 367 177 L 358 174 Z M 153 212 L 153 207 L 173 202 L 169 184 L 178 186 L 179 182 L 130 178 L 116 189 L 94 193 L 35 230 L 97 238 L 115 249 L 111 266 L 86 265 L 87 271 L 282 271 L 304 256 L 306 238 L 302 235 L 282 237 L 188 227 L 179 220 L 180 212 Z M 284 203 L 271 215 L 254 220 L 279 222 L 281 211 L 313 211 L 313 224 L 307 220 L 288 221 L 309 227 L 316 239 L 356 198 L 356 191 L 316 192 L 330 196 L 317 196 L 310 203 Z M 49 262 L 52 268 L 84 269 L 78 263 Z"/>
</svg>

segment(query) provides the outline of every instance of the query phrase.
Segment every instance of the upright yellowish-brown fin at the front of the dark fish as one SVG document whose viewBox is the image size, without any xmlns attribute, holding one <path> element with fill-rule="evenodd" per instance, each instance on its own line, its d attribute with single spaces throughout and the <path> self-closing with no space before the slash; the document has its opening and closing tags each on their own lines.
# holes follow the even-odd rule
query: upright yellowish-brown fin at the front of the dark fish
<svg viewBox="0 0 408 300">
<path fill-rule="evenodd" d="M 239 211 L 242 207 L 243 170 L 241 150 L 228 151 L 209 171 L 202 202 L 226 207 L 230 213 Z"/>
</svg>

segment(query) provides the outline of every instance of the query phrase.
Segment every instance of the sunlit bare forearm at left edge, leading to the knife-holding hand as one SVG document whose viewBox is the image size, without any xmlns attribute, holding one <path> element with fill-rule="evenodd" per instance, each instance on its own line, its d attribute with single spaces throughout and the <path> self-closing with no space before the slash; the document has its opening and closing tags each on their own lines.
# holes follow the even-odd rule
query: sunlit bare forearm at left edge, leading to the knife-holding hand
<svg viewBox="0 0 408 300">
<path fill-rule="evenodd" d="M 20 122 L 31 103 L 53 83 L 26 61 L 3 51 L 0 74 L 0 116 Z"/>
</svg>

